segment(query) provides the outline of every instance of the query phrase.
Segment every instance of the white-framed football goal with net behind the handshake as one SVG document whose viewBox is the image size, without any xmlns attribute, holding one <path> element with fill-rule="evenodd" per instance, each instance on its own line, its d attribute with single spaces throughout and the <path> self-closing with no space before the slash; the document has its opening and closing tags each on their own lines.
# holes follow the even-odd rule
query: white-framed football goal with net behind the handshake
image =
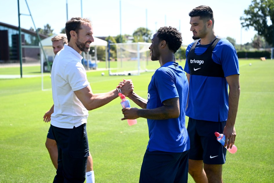
<svg viewBox="0 0 274 183">
<path fill-rule="evenodd" d="M 151 43 L 112 43 L 116 46 L 117 68 L 109 68 L 109 75 L 140 75 L 148 71 L 150 61 L 148 47 Z"/>
</svg>

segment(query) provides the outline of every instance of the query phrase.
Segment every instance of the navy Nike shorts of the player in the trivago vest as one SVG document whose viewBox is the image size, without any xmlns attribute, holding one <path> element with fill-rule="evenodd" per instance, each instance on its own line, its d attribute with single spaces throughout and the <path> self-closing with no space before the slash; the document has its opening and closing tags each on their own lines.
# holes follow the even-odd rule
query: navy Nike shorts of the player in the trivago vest
<svg viewBox="0 0 274 183">
<path fill-rule="evenodd" d="M 216 139 L 215 132 L 222 133 L 226 121 L 214 122 L 189 118 L 187 131 L 190 139 L 189 159 L 203 160 L 205 164 L 224 164 L 226 148 Z"/>
</svg>

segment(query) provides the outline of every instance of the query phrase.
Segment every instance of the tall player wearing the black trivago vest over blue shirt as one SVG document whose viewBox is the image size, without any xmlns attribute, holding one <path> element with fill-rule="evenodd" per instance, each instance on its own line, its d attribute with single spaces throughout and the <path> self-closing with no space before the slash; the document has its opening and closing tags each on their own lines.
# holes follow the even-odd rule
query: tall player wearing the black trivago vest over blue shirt
<svg viewBox="0 0 274 183">
<path fill-rule="evenodd" d="M 195 182 L 222 182 L 225 147 L 232 148 L 236 137 L 239 61 L 233 45 L 214 33 L 210 7 L 198 6 L 189 16 L 192 38 L 197 41 L 186 49 L 184 68 L 189 82 L 188 171 Z M 224 146 L 216 140 L 216 131 L 226 136 Z"/>
</svg>

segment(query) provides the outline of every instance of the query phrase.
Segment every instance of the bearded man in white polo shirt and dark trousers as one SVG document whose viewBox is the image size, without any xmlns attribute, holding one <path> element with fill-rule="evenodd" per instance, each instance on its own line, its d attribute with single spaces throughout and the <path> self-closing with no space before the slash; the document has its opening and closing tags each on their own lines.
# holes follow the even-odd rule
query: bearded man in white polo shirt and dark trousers
<svg viewBox="0 0 274 183">
<path fill-rule="evenodd" d="M 66 22 L 65 29 L 68 44 L 57 53 L 51 73 L 54 102 L 51 127 L 58 148 L 58 168 L 53 182 L 84 182 L 89 155 L 86 134 L 88 110 L 117 98 L 118 90 L 92 93 L 80 55 L 83 51 L 88 52 L 94 42 L 90 20 L 72 18 Z M 127 80 L 122 93 L 132 91 L 133 84 Z"/>
</svg>

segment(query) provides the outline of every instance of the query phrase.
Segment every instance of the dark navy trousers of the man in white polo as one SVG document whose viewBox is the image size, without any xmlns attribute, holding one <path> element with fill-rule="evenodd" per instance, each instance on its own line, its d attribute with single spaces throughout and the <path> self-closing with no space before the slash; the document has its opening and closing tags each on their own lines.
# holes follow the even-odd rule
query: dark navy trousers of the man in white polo
<svg viewBox="0 0 274 183">
<path fill-rule="evenodd" d="M 83 183 L 89 156 L 86 124 L 72 129 L 52 125 L 51 128 L 58 149 L 58 168 L 53 182 Z"/>
</svg>

